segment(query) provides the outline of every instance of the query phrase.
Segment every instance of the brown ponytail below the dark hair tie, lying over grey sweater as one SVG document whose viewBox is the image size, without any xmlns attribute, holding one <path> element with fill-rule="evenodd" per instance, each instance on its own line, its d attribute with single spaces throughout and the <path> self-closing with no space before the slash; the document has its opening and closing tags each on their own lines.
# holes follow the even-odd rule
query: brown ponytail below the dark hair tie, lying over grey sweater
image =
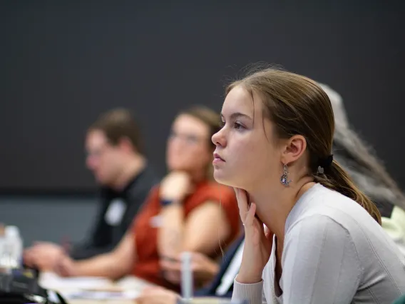
<svg viewBox="0 0 405 304">
<path fill-rule="evenodd" d="M 352 178 L 339 166 L 337 161 L 332 161 L 330 166 L 324 168 L 324 173 L 314 174 L 314 181 L 329 189 L 342 193 L 353 201 L 359 203 L 381 225 L 381 214 L 371 199 L 354 184 Z"/>
</svg>

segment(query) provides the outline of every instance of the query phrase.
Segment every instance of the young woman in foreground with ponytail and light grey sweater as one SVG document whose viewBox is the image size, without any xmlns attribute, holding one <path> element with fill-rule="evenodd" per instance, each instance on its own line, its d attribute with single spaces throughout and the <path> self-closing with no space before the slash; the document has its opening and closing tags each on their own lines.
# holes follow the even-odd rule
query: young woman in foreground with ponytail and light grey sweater
<svg viewBox="0 0 405 304">
<path fill-rule="evenodd" d="M 405 260 L 378 209 L 333 160 L 334 115 L 309 78 L 257 71 L 227 88 L 214 177 L 235 188 L 245 246 L 232 298 L 391 303 Z"/>
</svg>

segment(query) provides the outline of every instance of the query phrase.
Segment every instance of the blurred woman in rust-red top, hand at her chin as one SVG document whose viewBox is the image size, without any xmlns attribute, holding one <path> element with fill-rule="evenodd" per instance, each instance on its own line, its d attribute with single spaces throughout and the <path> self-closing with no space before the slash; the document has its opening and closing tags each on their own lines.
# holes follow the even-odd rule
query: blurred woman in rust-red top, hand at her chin
<svg viewBox="0 0 405 304">
<path fill-rule="evenodd" d="M 208 108 L 181 112 L 168 138 L 169 173 L 150 192 L 121 243 L 111 253 L 88 260 L 65 256 L 56 272 L 113 279 L 132 274 L 179 290 L 179 273 L 165 262 L 178 261 L 183 251 L 217 258 L 240 230 L 234 191 L 212 181 L 214 145 L 210 138 L 219 128 L 220 116 Z"/>
</svg>

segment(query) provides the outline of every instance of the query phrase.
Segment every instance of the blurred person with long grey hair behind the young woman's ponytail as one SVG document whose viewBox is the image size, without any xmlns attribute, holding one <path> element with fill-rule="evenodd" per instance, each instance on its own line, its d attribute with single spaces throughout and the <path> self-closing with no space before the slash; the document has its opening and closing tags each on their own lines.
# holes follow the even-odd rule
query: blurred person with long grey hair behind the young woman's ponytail
<svg viewBox="0 0 405 304">
<path fill-rule="evenodd" d="M 350 127 L 342 97 L 327 85 L 334 111 L 334 158 L 353 178 L 354 183 L 376 204 L 381 213 L 381 226 L 405 255 L 405 196 L 372 149 Z"/>
</svg>

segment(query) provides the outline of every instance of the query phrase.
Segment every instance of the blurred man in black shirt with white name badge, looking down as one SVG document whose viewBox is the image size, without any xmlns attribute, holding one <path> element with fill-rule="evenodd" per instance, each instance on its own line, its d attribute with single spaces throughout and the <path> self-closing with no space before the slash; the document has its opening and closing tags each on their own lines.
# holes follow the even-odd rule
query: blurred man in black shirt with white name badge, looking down
<svg viewBox="0 0 405 304">
<path fill-rule="evenodd" d="M 86 166 L 101 187 L 100 206 L 90 235 L 68 250 L 75 260 L 115 248 L 150 189 L 158 183 L 143 155 L 138 125 L 126 109 L 108 111 L 88 128 L 86 152 Z M 24 263 L 48 270 L 64 250 L 53 243 L 37 243 L 25 251 Z"/>
</svg>

